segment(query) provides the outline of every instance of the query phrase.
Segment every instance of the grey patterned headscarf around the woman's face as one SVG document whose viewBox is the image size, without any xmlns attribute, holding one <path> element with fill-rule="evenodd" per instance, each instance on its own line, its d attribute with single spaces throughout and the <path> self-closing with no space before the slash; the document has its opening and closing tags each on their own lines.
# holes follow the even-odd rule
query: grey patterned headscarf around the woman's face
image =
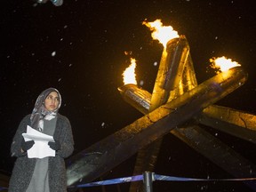
<svg viewBox="0 0 256 192">
<path fill-rule="evenodd" d="M 53 111 L 48 111 L 44 107 L 44 100 L 51 92 L 58 93 L 60 102 L 59 102 L 59 106 L 56 109 L 54 109 Z M 34 129 L 42 132 L 42 130 L 44 129 L 44 119 L 51 120 L 52 118 L 55 118 L 58 113 L 58 110 L 60 108 L 60 105 L 61 105 L 61 96 L 60 96 L 60 92 L 57 89 L 48 88 L 48 89 L 44 90 L 43 92 L 41 92 L 40 95 L 36 99 L 35 107 L 30 116 L 31 126 Z"/>
</svg>

